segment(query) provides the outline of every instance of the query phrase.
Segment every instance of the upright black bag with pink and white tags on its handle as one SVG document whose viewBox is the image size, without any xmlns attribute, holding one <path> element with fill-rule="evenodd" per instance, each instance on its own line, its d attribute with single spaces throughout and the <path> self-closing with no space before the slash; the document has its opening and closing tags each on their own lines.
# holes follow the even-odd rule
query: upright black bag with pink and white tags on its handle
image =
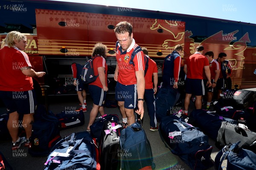
<svg viewBox="0 0 256 170">
<path fill-rule="evenodd" d="M 105 121 L 99 142 L 101 170 L 120 170 L 120 143 L 118 130 L 121 125 Z"/>
</svg>

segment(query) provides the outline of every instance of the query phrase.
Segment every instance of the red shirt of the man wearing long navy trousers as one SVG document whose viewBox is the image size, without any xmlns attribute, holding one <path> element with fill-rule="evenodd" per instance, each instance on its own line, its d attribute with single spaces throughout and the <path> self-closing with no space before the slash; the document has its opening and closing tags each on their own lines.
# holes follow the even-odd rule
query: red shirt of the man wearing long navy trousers
<svg viewBox="0 0 256 170">
<path fill-rule="evenodd" d="M 148 60 L 148 70 L 145 75 L 145 89 L 152 89 L 153 82 L 152 82 L 152 75 L 154 72 L 158 72 L 157 64 L 152 59 L 149 58 Z"/>
</svg>

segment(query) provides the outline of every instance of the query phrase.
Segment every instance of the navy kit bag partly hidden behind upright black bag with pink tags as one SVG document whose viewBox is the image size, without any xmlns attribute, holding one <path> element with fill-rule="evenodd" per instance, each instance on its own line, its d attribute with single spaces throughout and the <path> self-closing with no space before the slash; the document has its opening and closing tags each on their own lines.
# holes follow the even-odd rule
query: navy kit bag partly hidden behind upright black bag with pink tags
<svg viewBox="0 0 256 170">
<path fill-rule="evenodd" d="M 96 118 L 94 123 L 90 126 L 90 135 L 93 138 L 96 138 L 97 142 L 100 141 L 100 136 L 102 134 L 105 121 L 111 121 L 116 125 L 120 124 L 119 117 L 116 114 L 103 115 L 103 116 L 100 116 L 99 118 Z M 118 133 L 119 134 L 121 133 L 120 129 L 118 129 Z"/>
</svg>

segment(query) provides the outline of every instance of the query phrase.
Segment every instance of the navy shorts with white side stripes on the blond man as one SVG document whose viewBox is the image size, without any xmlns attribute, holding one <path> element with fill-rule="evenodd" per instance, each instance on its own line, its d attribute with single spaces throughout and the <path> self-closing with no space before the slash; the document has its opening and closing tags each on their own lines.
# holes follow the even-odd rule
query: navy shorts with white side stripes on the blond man
<svg viewBox="0 0 256 170">
<path fill-rule="evenodd" d="M 37 103 L 34 89 L 20 92 L 0 91 L 0 98 L 8 113 L 17 111 L 21 115 L 26 115 L 35 112 Z"/>
</svg>

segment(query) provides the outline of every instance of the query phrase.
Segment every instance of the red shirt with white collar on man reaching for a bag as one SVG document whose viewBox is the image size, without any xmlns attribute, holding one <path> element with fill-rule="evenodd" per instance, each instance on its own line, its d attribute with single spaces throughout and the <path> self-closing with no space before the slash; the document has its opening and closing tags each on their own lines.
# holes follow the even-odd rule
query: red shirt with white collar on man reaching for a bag
<svg viewBox="0 0 256 170">
<path fill-rule="evenodd" d="M 142 51 L 138 52 L 134 56 L 134 66 L 133 64 L 129 64 L 131 60 L 131 53 L 137 46 L 138 45 L 133 39 L 131 46 L 126 51 L 122 52 L 122 48 L 118 43 L 118 47 L 116 49 L 116 61 L 118 66 L 117 81 L 123 85 L 137 84 L 135 72 L 145 70 L 145 59 Z"/>
</svg>

